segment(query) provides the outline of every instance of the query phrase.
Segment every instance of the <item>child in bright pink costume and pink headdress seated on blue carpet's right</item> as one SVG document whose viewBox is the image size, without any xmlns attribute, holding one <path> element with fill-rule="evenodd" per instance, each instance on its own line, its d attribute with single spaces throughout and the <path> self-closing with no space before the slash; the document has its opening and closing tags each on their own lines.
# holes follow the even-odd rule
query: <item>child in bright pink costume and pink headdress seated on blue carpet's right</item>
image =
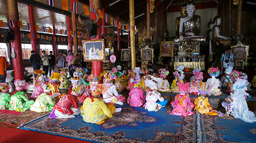
<svg viewBox="0 0 256 143">
<path fill-rule="evenodd" d="M 171 101 L 173 111 L 171 111 L 170 114 L 178 116 L 188 116 L 193 114 L 192 109 L 194 108 L 194 104 L 190 101 L 189 95 L 186 94 L 188 91 L 188 84 L 188 82 L 185 84 L 179 82 L 180 94 L 176 95 L 175 101 Z"/>
</svg>

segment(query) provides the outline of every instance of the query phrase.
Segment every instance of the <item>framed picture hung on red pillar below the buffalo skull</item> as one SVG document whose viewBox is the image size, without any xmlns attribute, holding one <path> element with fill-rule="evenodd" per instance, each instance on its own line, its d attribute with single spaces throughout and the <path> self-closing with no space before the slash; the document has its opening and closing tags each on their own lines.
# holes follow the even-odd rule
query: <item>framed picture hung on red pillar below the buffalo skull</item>
<svg viewBox="0 0 256 143">
<path fill-rule="evenodd" d="M 84 61 L 104 61 L 104 39 L 83 40 Z"/>
</svg>

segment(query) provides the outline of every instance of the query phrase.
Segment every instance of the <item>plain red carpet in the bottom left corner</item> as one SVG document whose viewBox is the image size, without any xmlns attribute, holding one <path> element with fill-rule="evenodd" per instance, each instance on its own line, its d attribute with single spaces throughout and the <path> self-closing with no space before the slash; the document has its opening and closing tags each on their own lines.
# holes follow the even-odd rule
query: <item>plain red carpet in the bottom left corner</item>
<svg viewBox="0 0 256 143">
<path fill-rule="evenodd" d="M 86 141 L 80 141 L 77 139 L 65 138 L 62 136 L 49 135 L 46 133 L 33 132 L 30 130 L 5 128 L 0 126 L 0 142 L 5 143 L 29 143 L 29 142 L 76 142 L 85 143 Z"/>
</svg>

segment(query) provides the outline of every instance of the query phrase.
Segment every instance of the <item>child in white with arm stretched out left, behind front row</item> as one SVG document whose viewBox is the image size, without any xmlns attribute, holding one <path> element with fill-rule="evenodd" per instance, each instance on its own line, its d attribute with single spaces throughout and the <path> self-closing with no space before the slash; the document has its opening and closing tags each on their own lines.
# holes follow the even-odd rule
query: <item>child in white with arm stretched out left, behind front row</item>
<svg viewBox="0 0 256 143">
<path fill-rule="evenodd" d="M 157 82 L 157 89 L 159 92 L 171 92 L 170 84 L 166 78 L 168 76 L 169 71 L 165 69 L 158 70 L 160 77 L 150 76 L 153 80 Z"/>
</svg>

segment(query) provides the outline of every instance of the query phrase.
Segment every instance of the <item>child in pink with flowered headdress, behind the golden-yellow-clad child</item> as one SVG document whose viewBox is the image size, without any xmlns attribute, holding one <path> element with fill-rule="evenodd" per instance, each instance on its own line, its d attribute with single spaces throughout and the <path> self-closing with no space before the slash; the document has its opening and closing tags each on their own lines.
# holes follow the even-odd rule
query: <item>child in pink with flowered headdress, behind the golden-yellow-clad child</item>
<svg viewBox="0 0 256 143">
<path fill-rule="evenodd" d="M 198 70 L 195 70 L 193 73 L 194 73 L 195 79 L 190 82 L 188 93 L 197 95 L 199 83 L 203 80 L 203 75 Z"/>
</svg>

